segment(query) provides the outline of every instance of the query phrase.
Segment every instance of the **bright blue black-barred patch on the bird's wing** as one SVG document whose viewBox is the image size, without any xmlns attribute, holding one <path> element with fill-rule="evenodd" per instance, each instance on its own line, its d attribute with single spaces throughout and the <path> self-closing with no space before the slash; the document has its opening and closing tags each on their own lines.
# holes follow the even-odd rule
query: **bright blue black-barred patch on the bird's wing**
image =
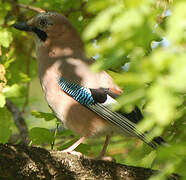
<svg viewBox="0 0 186 180">
<path fill-rule="evenodd" d="M 70 95 L 73 99 L 75 99 L 80 104 L 83 105 L 95 104 L 95 101 L 88 88 L 69 82 L 64 78 L 60 78 L 58 83 L 64 92 L 66 92 L 68 95 Z"/>
</svg>

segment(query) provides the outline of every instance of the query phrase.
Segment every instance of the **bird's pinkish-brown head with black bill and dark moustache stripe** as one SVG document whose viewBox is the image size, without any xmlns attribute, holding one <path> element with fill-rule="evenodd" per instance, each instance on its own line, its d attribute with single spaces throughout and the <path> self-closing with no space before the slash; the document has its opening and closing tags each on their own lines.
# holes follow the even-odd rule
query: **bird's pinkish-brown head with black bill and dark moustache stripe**
<svg viewBox="0 0 186 180">
<path fill-rule="evenodd" d="M 56 12 L 40 13 L 24 23 L 13 25 L 16 29 L 35 34 L 36 47 L 58 46 L 71 50 L 83 49 L 82 40 L 69 20 Z M 75 50 L 75 51 L 76 51 Z"/>
</svg>

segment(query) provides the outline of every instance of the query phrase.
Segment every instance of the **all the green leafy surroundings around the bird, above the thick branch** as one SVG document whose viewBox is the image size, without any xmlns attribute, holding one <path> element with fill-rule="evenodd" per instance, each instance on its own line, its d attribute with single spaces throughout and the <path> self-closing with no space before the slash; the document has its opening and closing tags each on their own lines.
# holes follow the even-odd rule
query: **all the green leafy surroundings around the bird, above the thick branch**
<svg viewBox="0 0 186 180">
<path fill-rule="evenodd" d="M 117 162 L 161 169 L 151 179 L 179 173 L 186 179 L 186 1 L 0 0 L 0 142 L 65 149 L 79 136 L 49 109 L 37 78 L 31 34 L 12 27 L 39 12 L 55 11 L 81 35 L 93 71 L 107 70 L 124 90 L 114 110 L 140 107 L 138 124 L 169 144 L 152 151 L 135 138 L 113 136 L 107 155 Z M 105 137 L 76 150 L 96 157 Z"/>
</svg>

